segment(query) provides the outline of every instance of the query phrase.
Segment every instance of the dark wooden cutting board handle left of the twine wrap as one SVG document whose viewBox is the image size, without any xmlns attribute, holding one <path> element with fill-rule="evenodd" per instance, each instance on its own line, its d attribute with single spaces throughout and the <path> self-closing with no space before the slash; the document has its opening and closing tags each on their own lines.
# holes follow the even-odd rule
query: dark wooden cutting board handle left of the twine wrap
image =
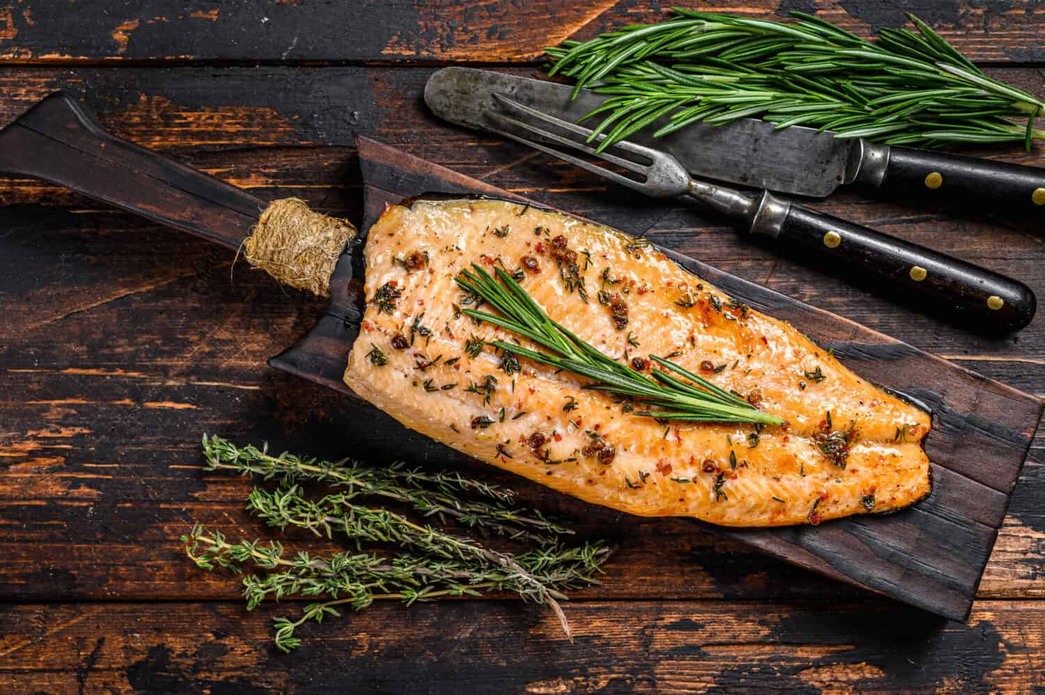
<svg viewBox="0 0 1045 695">
<path fill-rule="evenodd" d="M 62 92 L 0 131 L 0 172 L 42 179 L 238 249 L 266 203 L 108 134 Z"/>
</svg>

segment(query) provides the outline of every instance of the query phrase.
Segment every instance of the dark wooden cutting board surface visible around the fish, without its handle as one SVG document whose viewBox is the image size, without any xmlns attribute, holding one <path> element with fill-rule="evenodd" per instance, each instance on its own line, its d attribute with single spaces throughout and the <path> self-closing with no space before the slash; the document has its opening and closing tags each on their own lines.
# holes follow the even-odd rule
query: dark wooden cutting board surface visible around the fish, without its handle
<svg viewBox="0 0 1045 695">
<path fill-rule="evenodd" d="M 351 392 L 341 375 L 362 306 L 359 247 L 385 206 L 427 192 L 527 201 L 368 138 L 357 138 L 356 144 L 366 196 L 363 233 L 354 253 L 346 254 L 334 273 L 327 315 L 273 360 L 276 367 L 346 393 Z M 932 412 L 932 431 L 925 440 L 933 462 L 932 493 L 912 508 L 818 527 L 745 530 L 695 525 L 829 577 L 967 620 L 1043 403 L 847 319 L 661 251 L 753 308 L 791 322 L 820 346 L 834 349 L 865 379 Z M 447 449 L 447 456 L 455 455 Z"/>
</svg>

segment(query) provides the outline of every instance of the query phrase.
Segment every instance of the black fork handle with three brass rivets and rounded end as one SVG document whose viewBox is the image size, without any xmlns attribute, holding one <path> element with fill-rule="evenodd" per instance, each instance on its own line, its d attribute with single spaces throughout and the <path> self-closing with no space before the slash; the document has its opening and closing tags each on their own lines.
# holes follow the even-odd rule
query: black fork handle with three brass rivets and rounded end
<svg viewBox="0 0 1045 695">
<path fill-rule="evenodd" d="M 758 210 L 753 232 L 776 236 L 834 274 L 925 314 L 993 335 L 1019 330 L 1035 316 L 1034 293 L 1004 275 L 769 193 Z M 775 224 L 765 219 L 766 211 L 775 211 Z"/>
</svg>

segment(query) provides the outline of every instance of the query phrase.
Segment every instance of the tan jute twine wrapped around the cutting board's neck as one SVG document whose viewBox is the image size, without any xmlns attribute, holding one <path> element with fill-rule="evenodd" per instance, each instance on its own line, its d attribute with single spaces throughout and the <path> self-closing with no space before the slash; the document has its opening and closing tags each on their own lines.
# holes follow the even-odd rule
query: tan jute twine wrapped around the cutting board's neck
<svg viewBox="0 0 1045 695">
<path fill-rule="evenodd" d="M 330 274 L 355 236 L 347 219 L 308 208 L 304 201 L 273 201 L 243 241 L 243 257 L 280 283 L 329 297 Z"/>
</svg>

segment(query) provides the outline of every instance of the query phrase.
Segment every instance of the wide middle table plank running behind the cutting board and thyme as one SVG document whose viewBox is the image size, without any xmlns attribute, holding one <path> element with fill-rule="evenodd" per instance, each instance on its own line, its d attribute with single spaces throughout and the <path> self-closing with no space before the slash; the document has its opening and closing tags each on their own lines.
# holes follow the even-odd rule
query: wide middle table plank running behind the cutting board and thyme
<svg viewBox="0 0 1045 695">
<path fill-rule="evenodd" d="M 264 96 L 283 91 L 292 72 L 229 69 L 200 80 L 190 70 L 77 70 L 64 77 L 51 71 L 50 85 L 103 76 L 107 89 L 122 95 L 109 101 L 94 94 L 89 101 L 107 128 L 145 138 L 261 198 L 301 195 L 358 221 L 357 161 L 351 148 L 292 146 L 296 133 L 312 128 L 299 125 L 310 97 L 296 103 Z M 363 87 L 345 88 L 350 71 L 344 69 L 300 72 L 306 91 L 326 89 L 342 111 L 370 94 L 378 106 L 367 112 L 364 123 L 384 139 L 409 142 L 454 168 L 628 231 L 653 224 L 658 244 L 919 347 L 966 360 L 988 376 L 1042 389 L 1041 320 L 1015 339 L 984 342 L 779 259 L 771 249 L 749 245 L 715 219 L 622 191 L 607 196 L 604 186 L 570 167 L 529 157 L 513 145 L 475 140 L 423 112 L 391 108 L 403 93 L 419 93 L 427 70 L 375 70 L 372 82 L 386 85 L 376 95 L 353 91 Z M 31 74 L 5 72 L 4 84 L 29 83 Z M 195 96 L 193 82 L 200 84 Z M 223 107 L 223 91 L 228 95 L 237 89 L 249 91 L 254 105 Z M 163 94 L 172 106 L 132 108 L 143 99 L 162 105 L 158 95 Z M 121 111 L 121 105 L 130 106 Z M 215 124 L 226 115 L 237 124 L 234 134 Z M 1003 156 L 1020 157 L 1018 152 Z M 176 552 L 177 537 L 191 518 L 262 534 L 238 513 L 245 485 L 215 492 L 224 504 L 208 496 L 210 488 L 192 468 L 199 463 L 195 438 L 209 430 L 255 442 L 272 439 L 296 450 L 344 454 L 342 433 L 358 421 L 353 415 L 359 411 L 339 412 L 344 401 L 336 394 L 263 367 L 265 358 L 311 325 L 322 307 L 282 293 L 242 263 L 230 277 L 231 254 L 219 249 L 56 188 L 20 180 L 6 182 L 0 194 L 16 204 L 4 208 L 0 235 L 0 309 L 9 319 L 0 323 L 2 518 L 5 530 L 17 531 L 5 537 L 4 548 L 19 558 L 5 571 L 6 596 L 234 596 L 235 582 L 186 581 L 185 561 Z M 1039 292 L 1045 287 L 1034 236 L 940 213 L 870 205 L 856 193 L 829 205 L 825 209 L 836 214 L 885 223 L 895 233 L 1008 269 Z M 36 321 L 27 319 L 30 314 Z M 381 451 L 367 454 L 377 458 Z M 1043 595 L 1036 581 L 1045 564 L 1040 470 L 1031 462 L 1024 471 L 981 595 Z M 536 487 L 522 489 L 527 500 L 554 506 L 560 499 L 542 496 Z M 136 511 L 139 505 L 145 509 Z M 584 515 L 587 509 L 565 510 Z M 596 532 L 600 525 L 619 523 L 596 516 L 584 528 Z M 858 596 L 735 543 L 695 534 L 684 524 L 624 528 L 614 560 L 620 573 L 599 589 L 606 596 Z M 98 540 L 112 539 L 107 529 L 118 531 L 119 561 L 98 556 Z"/>
</svg>

